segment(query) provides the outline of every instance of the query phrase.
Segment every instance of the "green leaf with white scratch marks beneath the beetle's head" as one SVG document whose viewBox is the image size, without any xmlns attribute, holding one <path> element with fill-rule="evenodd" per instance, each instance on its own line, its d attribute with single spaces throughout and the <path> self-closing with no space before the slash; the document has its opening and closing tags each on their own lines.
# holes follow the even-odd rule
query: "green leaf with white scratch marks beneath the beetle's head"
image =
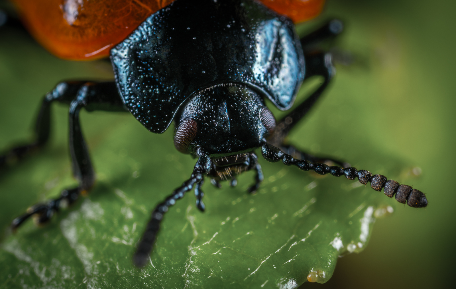
<svg viewBox="0 0 456 289">
<path fill-rule="evenodd" d="M 89 196 L 44 228 L 29 222 L 5 240 L 1 261 L 14 264 L 9 286 L 292 288 L 308 274 L 322 283 L 337 256 L 364 248 L 374 215 L 389 203 L 356 181 L 261 160 L 266 180 L 258 194 L 246 193 L 252 173 L 236 188 L 205 184 L 205 213 L 187 194 L 166 214 L 150 265 L 136 269 L 131 255 L 150 210 L 188 177 L 194 160 L 175 151 L 171 132 L 149 134 L 134 118 L 104 130 L 97 145 L 89 139 L 98 171 Z M 69 165 L 48 175 L 43 185 L 58 181 L 45 198 L 68 183 Z"/>
</svg>

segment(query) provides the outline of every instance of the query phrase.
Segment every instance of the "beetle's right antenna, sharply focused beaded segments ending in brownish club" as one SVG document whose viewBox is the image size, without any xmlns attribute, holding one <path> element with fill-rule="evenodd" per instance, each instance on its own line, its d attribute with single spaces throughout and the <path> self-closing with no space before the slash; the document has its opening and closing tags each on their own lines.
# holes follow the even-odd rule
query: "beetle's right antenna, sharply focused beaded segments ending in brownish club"
<svg viewBox="0 0 456 289">
<path fill-rule="evenodd" d="M 395 180 L 387 179 L 381 174 L 372 175 L 371 172 L 364 169 L 358 170 L 356 168 L 341 168 L 321 163 L 311 163 L 310 161 L 304 159 L 295 159 L 290 154 L 285 154 L 279 148 L 269 144 L 265 144 L 261 147 L 261 154 L 264 159 L 269 162 L 275 163 L 282 160 L 282 162 L 286 165 L 295 165 L 305 171 L 313 170 L 317 174 L 330 173 L 336 177 L 345 175 L 347 179 L 351 180 L 358 178 L 361 184 L 367 184 L 370 182 L 371 188 L 378 192 L 383 189 L 383 192 L 390 198 L 396 194 L 396 200 L 399 203 L 407 203 L 410 207 L 414 208 L 427 206 L 425 194 L 417 189 L 412 189 L 411 186 L 399 184 Z"/>
</svg>

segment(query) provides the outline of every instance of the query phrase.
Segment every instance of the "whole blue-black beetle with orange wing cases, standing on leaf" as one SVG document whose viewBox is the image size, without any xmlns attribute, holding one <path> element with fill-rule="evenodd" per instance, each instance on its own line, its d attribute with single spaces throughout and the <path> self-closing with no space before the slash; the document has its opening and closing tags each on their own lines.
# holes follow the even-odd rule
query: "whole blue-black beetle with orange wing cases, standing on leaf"
<svg viewBox="0 0 456 289">
<path fill-rule="evenodd" d="M 23 1 L 17 0 L 20 2 Z M 320 5 L 317 8 L 321 10 L 323 1 L 313 2 Z M 95 46 L 88 48 L 98 48 L 92 52 L 78 45 L 74 45 L 75 48 L 56 46 L 51 36 L 48 35 L 50 40 L 40 38 L 46 36 L 46 31 L 35 31 L 38 40 L 63 58 L 93 59 L 109 51 L 115 81 L 59 83 L 43 99 L 36 120 L 36 140 L 0 156 L 0 165 L 5 165 L 10 159 L 20 159 L 45 145 L 50 132 L 51 103 L 69 105 L 70 154 L 78 187 L 64 189 L 58 198 L 32 206 L 26 214 L 12 221 L 13 229 L 33 215 L 37 216 L 38 223 L 45 223 L 64 203 L 74 203 L 93 186 L 94 170 L 79 125 L 78 113 L 82 108 L 129 111 L 154 133 L 164 132 L 174 122 L 176 149 L 197 158 L 190 178 L 152 211 L 133 256 L 138 267 L 148 261 L 164 214 L 193 187 L 196 206 L 204 211 L 201 189 L 204 178 L 209 178 L 215 186 L 224 180 L 234 186 L 238 174 L 254 170 L 255 181 L 248 189 L 254 193 L 264 178 L 254 152 L 259 148 L 264 159 L 270 162 L 282 161 L 318 174 L 358 178 L 362 184 L 370 182 L 374 190 L 383 189 L 390 198 L 395 196 L 400 203 L 415 208 L 427 205 L 425 194 L 408 185 L 349 167 L 337 159 L 306 154 L 284 142 L 285 136 L 312 108 L 334 76 L 331 54 L 312 47 L 340 34 L 341 21 L 331 20 L 299 39 L 294 19 L 253 0 L 175 0 L 166 4 L 119 43 L 104 45 L 101 37 Z M 67 25 L 77 26 L 79 10 L 70 8 L 62 8 L 63 20 Z M 27 13 L 24 15 L 27 17 Z M 31 16 L 26 18 L 26 26 L 30 28 L 33 21 Z M 36 30 L 30 29 L 32 33 Z M 77 40 L 83 42 L 84 37 Z M 73 53 L 73 49 L 82 52 Z M 321 86 L 276 121 L 265 100 L 280 110 L 289 110 L 301 83 L 314 75 L 324 78 Z M 329 162 L 338 166 L 326 164 Z"/>
</svg>

